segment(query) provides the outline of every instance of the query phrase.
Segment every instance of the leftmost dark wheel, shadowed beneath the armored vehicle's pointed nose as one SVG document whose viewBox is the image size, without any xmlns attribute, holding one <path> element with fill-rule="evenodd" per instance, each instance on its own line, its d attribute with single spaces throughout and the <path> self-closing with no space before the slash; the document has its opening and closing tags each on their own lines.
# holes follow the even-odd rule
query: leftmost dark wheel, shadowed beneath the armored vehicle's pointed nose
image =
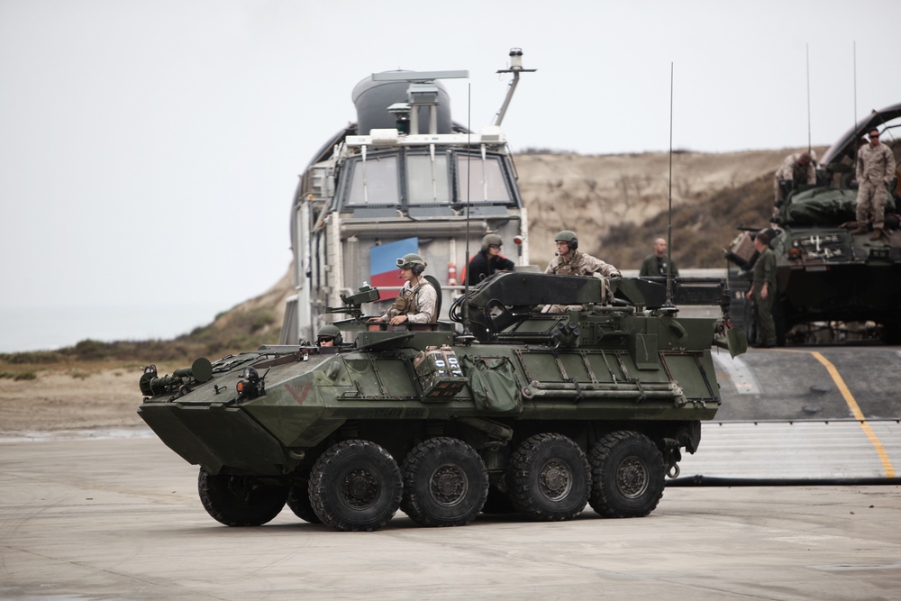
<svg viewBox="0 0 901 601">
<path fill-rule="evenodd" d="M 259 526 L 285 507 L 287 487 L 266 484 L 252 476 L 211 474 L 200 469 L 197 490 L 206 513 L 226 526 Z"/>
</svg>

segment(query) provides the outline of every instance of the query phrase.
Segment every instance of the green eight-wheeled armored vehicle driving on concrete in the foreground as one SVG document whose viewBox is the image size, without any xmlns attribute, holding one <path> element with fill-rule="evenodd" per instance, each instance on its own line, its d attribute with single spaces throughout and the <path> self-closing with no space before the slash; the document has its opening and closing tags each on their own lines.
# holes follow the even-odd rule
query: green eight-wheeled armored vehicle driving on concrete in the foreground
<svg viewBox="0 0 901 601">
<path fill-rule="evenodd" d="M 457 332 L 369 323 L 360 307 L 378 289 L 362 287 L 330 307 L 350 315 L 336 324 L 352 342 L 264 346 L 171 376 L 148 366 L 138 413 L 200 466 L 223 524 L 265 524 L 286 503 L 342 531 L 380 528 L 398 507 L 427 526 L 481 511 L 567 520 L 586 503 L 643 516 L 720 406 L 712 346 L 744 350 L 726 319 L 672 305 L 726 304 L 722 280 L 666 290 L 498 273 L 454 302 Z"/>
</svg>

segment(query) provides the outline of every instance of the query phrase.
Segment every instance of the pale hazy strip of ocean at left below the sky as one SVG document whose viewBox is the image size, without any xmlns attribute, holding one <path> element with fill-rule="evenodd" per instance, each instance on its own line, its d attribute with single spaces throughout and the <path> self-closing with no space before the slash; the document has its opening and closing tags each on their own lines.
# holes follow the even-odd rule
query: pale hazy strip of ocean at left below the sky
<svg viewBox="0 0 901 601">
<path fill-rule="evenodd" d="M 0 307 L 0 352 L 52 351 L 86 339 L 168 340 L 212 323 L 210 304 Z"/>
</svg>

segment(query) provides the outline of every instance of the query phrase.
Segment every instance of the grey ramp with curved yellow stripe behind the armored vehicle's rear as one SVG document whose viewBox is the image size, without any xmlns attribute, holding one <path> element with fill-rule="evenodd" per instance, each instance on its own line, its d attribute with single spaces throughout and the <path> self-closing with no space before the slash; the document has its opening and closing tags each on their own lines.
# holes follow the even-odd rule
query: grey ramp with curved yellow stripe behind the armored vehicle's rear
<svg viewBox="0 0 901 601">
<path fill-rule="evenodd" d="M 681 478 L 897 478 L 901 351 L 714 351 L 724 405 Z"/>
</svg>

